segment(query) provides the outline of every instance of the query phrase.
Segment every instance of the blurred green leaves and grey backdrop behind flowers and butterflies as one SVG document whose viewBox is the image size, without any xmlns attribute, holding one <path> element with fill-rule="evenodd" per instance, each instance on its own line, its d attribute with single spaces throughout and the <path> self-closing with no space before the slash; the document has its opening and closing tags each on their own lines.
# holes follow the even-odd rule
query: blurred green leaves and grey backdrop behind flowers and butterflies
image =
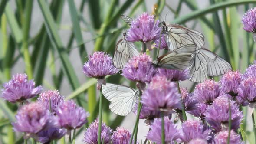
<svg viewBox="0 0 256 144">
<path fill-rule="evenodd" d="M 255 46 L 241 18 L 255 5 L 256 0 L 1 0 L 0 83 L 26 72 L 44 90 L 59 89 L 66 99 L 77 101 L 90 112 L 91 122 L 98 114 L 98 92 L 96 80 L 83 75 L 82 65 L 93 51 L 113 55 L 116 42 L 128 29 L 122 14 L 135 18 L 148 12 L 161 21 L 166 16 L 166 23 L 200 31 L 206 48 L 243 72 L 255 59 Z M 107 80 L 134 85 L 120 75 Z M 181 86 L 193 88 L 194 84 L 185 81 Z M 0 144 L 22 143 L 21 134 L 15 135 L 10 125 L 16 110 L 16 105 L 0 99 Z M 113 115 L 104 100 L 103 121 L 111 128 L 121 125 L 132 130 L 135 115 Z M 250 137 L 251 125 L 246 130 L 246 122 L 243 133 Z M 78 131 L 80 139 L 84 130 Z M 138 139 L 145 139 L 147 131 L 140 121 Z M 254 138 L 248 141 L 253 143 Z"/>
</svg>

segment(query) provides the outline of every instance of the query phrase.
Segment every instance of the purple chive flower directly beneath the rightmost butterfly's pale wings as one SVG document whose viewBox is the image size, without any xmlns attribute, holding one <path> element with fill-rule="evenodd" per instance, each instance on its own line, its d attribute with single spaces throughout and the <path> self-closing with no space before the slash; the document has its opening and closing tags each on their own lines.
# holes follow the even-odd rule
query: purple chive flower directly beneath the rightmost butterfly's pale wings
<svg viewBox="0 0 256 144">
<path fill-rule="evenodd" d="M 210 105 L 220 95 L 219 84 L 211 79 L 206 80 L 196 85 L 194 95 L 197 101 Z"/>
</svg>

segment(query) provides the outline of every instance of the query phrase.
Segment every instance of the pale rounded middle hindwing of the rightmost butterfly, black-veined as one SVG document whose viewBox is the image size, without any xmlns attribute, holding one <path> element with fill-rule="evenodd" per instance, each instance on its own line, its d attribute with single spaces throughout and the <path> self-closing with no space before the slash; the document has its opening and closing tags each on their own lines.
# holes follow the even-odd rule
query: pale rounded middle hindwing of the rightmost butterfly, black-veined
<svg viewBox="0 0 256 144">
<path fill-rule="evenodd" d="M 193 54 L 188 69 L 190 74 L 190 81 L 203 82 L 206 80 L 208 73 L 207 61 L 199 50 Z"/>
</svg>

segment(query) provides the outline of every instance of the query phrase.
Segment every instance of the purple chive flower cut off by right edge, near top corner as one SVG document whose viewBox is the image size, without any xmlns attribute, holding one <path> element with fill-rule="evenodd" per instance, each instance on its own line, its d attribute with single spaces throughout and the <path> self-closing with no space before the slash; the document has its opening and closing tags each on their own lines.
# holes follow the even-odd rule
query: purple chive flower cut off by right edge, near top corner
<svg viewBox="0 0 256 144">
<path fill-rule="evenodd" d="M 256 7 L 248 10 L 242 18 L 243 29 L 247 32 L 256 33 Z"/>
</svg>

